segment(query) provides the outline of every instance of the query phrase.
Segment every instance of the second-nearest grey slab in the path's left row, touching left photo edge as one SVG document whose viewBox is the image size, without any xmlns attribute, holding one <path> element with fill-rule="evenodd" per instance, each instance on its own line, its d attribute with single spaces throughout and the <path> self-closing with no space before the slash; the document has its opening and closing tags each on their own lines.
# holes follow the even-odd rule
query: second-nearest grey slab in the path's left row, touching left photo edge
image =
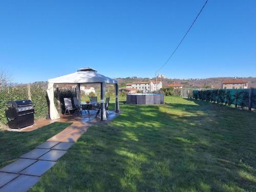
<svg viewBox="0 0 256 192">
<path fill-rule="evenodd" d="M 21 170 L 25 169 L 29 165 L 33 164 L 37 160 L 34 159 L 18 159 L 13 163 L 0 169 L 0 172 L 9 172 L 9 173 L 19 173 Z"/>
</svg>

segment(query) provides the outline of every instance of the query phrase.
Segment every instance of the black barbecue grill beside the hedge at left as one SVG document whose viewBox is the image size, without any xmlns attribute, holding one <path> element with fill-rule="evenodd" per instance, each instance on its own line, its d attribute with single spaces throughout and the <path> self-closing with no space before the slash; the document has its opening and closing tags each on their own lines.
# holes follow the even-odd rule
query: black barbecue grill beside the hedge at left
<svg viewBox="0 0 256 192">
<path fill-rule="evenodd" d="M 20 129 L 34 124 L 34 106 L 31 100 L 7 101 L 5 111 L 11 129 Z"/>
</svg>

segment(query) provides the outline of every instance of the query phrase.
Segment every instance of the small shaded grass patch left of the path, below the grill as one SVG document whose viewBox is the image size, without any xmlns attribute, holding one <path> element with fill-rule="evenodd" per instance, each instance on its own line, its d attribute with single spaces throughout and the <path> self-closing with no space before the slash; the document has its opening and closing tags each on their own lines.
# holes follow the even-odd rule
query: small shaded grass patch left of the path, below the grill
<svg viewBox="0 0 256 192">
<path fill-rule="evenodd" d="M 70 124 L 54 122 L 31 132 L 0 131 L 0 167 L 15 161 Z"/>
</svg>

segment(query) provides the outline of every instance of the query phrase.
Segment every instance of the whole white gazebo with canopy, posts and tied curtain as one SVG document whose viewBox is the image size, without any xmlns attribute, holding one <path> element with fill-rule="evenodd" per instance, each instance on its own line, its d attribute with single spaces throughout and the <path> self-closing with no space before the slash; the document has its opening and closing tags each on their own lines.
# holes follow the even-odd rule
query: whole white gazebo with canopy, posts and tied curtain
<svg viewBox="0 0 256 192">
<path fill-rule="evenodd" d="M 76 84 L 77 97 L 78 97 L 79 102 L 81 101 L 80 84 L 82 84 L 82 83 L 100 83 L 100 103 L 101 103 L 100 118 L 101 118 L 101 120 L 106 120 L 105 105 L 104 105 L 106 83 L 113 83 L 113 84 L 115 84 L 115 92 L 116 92 L 115 112 L 119 112 L 118 81 L 115 79 L 109 78 L 109 77 L 105 77 L 104 75 L 97 73 L 97 71 L 92 68 L 89 68 L 89 67 L 81 68 L 81 69 L 78 69 L 77 72 L 75 72 L 75 73 L 63 75 L 60 77 L 56 77 L 54 79 L 49 79 L 48 82 L 49 83 L 48 83 L 47 94 L 48 94 L 49 101 L 50 101 L 50 118 L 51 119 L 60 118 L 58 111 L 54 105 L 54 92 L 53 92 L 54 83 Z"/>
</svg>

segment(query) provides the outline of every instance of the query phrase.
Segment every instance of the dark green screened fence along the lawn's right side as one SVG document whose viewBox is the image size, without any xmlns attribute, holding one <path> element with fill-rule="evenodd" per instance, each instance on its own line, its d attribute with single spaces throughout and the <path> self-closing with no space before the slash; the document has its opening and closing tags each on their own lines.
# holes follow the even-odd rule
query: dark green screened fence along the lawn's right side
<svg viewBox="0 0 256 192">
<path fill-rule="evenodd" d="M 256 109 L 256 89 L 194 90 L 193 99 Z"/>
</svg>

